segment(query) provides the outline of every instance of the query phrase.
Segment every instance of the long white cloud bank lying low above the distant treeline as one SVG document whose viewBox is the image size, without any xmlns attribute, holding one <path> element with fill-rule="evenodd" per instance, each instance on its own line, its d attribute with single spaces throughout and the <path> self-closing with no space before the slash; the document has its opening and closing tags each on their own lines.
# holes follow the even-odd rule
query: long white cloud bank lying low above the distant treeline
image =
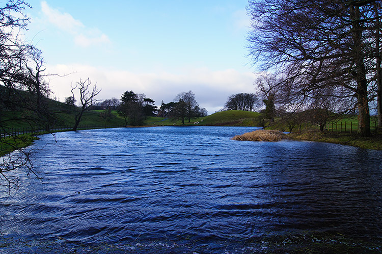
<svg viewBox="0 0 382 254">
<path fill-rule="evenodd" d="M 233 69 L 222 71 L 194 69 L 182 74 L 133 73 L 74 64 L 48 66 L 48 70 L 51 73 L 72 73 L 50 80 L 54 95 L 61 101 L 71 95 L 72 82 L 88 77 L 93 84 L 97 82 L 97 87 L 102 89 L 99 99 L 120 98 L 125 91 L 132 90 L 135 93 L 146 94 L 160 106 L 161 100 L 169 103 L 178 93 L 192 90 L 200 106 L 206 108 L 210 114 L 222 109 L 231 94 L 255 92 L 253 81 L 256 75 L 252 72 L 240 73 Z"/>
</svg>

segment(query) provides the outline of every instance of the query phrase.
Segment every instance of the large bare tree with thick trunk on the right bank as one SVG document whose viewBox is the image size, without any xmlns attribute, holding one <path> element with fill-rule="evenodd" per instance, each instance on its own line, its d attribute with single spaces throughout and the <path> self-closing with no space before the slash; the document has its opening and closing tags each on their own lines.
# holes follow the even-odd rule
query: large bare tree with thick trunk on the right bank
<svg viewBox="0 0 382 254">
<path fill-rule="evenodd" d="M 358 111 L 359 135 L 369 136 L 373 2 L 250 1 L 249 55 L 263 70 L 282 73 L 291 105 L 309 104 L 320 89 L 339 88 L 338 96 Z"/>
</svg>

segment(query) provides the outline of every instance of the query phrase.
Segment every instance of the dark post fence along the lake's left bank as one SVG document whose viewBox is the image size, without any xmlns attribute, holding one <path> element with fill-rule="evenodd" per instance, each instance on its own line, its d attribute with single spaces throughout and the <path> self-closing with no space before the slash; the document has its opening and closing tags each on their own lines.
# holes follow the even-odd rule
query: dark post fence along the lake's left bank
<svg viewBox="0 0 382 254">
<path fill-rule="evenodd" d="M 92 126 L 92 125 L 85 125 L 85 126 L 79 126 L 77 130 L 91 130 L 91 129 L 108 129 L 108 128 L 121 128 L 125 126 Z M 26 134 L 39 134 L 44 132 L 56 132 L 56 131 L 69 131 L 72 130 L 73 127 L 60 127 L 60 128 L 52 128 L 49 129 L 49 131 L 41 130 L 41 129 L 35 129 L 35 128 L 24 128 L 24 127 L 14 127 L 14 128 L 6 128 L 6 131 L 0 131 L 0 140 L 2 138 L 10 137 L 10 136 L 21 136 Z"/>
</svg>

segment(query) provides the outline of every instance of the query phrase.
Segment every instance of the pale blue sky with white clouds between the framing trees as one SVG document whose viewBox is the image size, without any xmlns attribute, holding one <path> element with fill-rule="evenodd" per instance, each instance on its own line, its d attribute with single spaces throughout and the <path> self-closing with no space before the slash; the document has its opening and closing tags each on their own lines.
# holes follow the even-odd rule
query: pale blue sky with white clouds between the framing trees
<svg viewBox="0 0 382 254">
<path fill-rule="evenodd" d="M 89 78 L 98 99 L 144 93 L 160 106 L 192 90 L 212 114 L 255 92 L 247 0 L 30 0 L 25 39 L 43 54 L 53 97 Z"/>
</svg>

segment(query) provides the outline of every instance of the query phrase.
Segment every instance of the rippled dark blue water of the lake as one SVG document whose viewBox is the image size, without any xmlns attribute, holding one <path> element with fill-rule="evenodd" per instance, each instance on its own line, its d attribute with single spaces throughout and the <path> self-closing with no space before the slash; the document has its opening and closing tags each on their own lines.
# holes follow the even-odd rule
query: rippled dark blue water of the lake
<svg viewBox="0 0 382 254">
<path fill-rule="evenodd" d="M 83 243 L 382 236 L 382 151 L 230 140 L 256 128 L 158 127 L 43 135 L 39 180 L 2 198 L 0 233 Z"/>
</svg>

